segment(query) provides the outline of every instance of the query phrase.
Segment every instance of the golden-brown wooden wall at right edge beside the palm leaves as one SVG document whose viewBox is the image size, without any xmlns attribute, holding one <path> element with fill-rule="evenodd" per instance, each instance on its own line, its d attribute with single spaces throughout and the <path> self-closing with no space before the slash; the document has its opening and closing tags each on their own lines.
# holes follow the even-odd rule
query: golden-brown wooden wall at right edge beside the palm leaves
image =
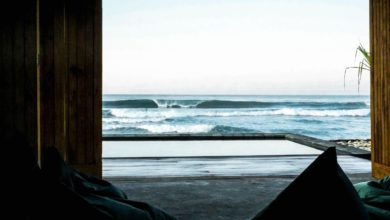
<svg viewBox="0 0 390 220">
<path fill-rule="evenodd" d="M 390 1 L 370 1 L 372 173 L 390 175 Z"/>
</svg>

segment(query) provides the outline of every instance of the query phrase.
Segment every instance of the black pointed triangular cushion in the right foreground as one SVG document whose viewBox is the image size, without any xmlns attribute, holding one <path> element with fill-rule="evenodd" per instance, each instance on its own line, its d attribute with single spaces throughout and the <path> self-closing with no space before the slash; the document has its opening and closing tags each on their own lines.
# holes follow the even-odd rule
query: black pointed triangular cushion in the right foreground
<svg viewBox="0 0 390 220">
<path fill-rule="evenodd" d="M 253 219 L 368 219 L 352 183 L 329 148 Z"/>
</svg>

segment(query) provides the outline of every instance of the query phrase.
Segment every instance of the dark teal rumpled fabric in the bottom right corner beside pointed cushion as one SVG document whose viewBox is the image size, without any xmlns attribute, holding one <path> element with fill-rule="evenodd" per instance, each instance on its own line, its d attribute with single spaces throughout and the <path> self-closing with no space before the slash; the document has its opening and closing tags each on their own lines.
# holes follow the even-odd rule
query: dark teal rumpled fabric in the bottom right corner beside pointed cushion
<svg viewBox="0 0 390 220">
<path fill-rule="evenodd" d="M 390 176 L 354 186 L 372 220 L 390 219 Z"/>
</svg>

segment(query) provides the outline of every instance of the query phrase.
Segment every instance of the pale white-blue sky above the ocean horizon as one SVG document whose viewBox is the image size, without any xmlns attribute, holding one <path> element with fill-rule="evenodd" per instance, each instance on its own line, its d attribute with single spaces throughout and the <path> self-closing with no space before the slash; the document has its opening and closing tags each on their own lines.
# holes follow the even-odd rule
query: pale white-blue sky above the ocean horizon
<svg viewBox="0 0 390 220">
<path fill-rule="evenodd" d="M 103 0 L 103 93 L 367 95 L 368 3 Z"/>
</svg>

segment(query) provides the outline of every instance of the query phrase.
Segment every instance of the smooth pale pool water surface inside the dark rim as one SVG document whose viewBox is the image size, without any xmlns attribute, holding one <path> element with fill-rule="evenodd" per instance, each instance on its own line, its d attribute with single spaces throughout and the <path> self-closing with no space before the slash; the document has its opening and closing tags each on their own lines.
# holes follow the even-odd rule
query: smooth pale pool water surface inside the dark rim
<svg viewBox="0 0 390 220">
<path fill-rule="evenodd" d="M 103 141 L 103 158 L 318 155 L 288 140 Z"/>
</svg>

